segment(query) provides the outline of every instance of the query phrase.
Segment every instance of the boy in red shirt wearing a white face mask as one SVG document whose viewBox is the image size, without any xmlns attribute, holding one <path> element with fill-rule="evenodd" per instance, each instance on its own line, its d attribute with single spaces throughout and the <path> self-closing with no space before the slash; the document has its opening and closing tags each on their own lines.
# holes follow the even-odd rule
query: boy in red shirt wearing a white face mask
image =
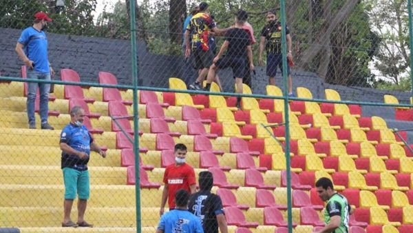
<svg viewBox="0 0 413 233">
<path fill-rule="evenodd" d="M 162 192 L 159 214 L 165 211 L 165 204 L 168 200 L 169 210 L 175 208 L 175 193 L 180 189 L 187 190 L 191 194 L 196 191 L 195 172 L 191 165 L 185 163 L 187 156 L 187 146 L 178 143 L 175 145 L 175 163 L 168 165 L 165 169 L 163 181 L 165 183 Z"/>
</svg>

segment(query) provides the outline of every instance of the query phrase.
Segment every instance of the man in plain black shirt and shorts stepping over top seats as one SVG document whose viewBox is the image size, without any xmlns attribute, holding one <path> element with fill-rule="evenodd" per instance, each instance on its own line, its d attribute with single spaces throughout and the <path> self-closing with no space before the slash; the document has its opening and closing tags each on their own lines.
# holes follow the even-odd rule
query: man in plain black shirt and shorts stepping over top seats
<svg viewBox="0 0 413 233">
<path fill-rule="evenodd" d="M 206 90 L 211 89 L 211 83 L 218 69 L 231 67 L 235 76 L 237 93 L 242 93 L 242 78 L 246 77 L 246 72 L 254 70 L 253 50 L 251 49 L 251 37 L 246 30 L 242 29 L 248 19 L 245 10 L 239 10 L 235 17 L 235 28 L 231 28 L 225 34 L 225 41 L 220 52 L 213 59 L 213 65 L 209 68 Z M 227 51 L 226 51 L 227 50 Z M 222 55 L 226 51 L 224 57 Z M 248 64 L 245 57 L 248 56 Z M 237 97 L 237 108 L 241 108 L 241 97 Z"/>
</svg>

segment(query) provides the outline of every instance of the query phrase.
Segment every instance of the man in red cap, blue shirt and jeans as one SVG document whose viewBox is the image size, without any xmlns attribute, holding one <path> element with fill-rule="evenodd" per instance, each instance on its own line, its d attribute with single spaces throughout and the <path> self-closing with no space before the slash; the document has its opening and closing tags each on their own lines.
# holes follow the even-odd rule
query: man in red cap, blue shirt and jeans
<svg viewBox="0 0 413 233">
<path fill-rule="evenodd" d="M 43 30 L 47 26 L 47 22 L 51 22 L 45 12 L 37 12 L 34 14 L 34 24 L 32 27 L 26 28 L 21 32 L 19 41 L 17 41 L 16 52 L 20 59 L 28 68 L 27 77 L 29 79 L 50 80 L 50 74 L 54 75 L 54 70 L 50 66 L 47 58 L 47 37 Z M 36 128 L 36 119 L 34 118 L 34 101 L 36 100 L 36 90 L 39 84 L 40 92 L 40 118 L 41 128 L 43 130 L 54 130 L 47 123 L 47 113 L 49 112 L 49 92 L 50 83 L 28 83 L 28 120 L 29 128 Z"/>
</svg>

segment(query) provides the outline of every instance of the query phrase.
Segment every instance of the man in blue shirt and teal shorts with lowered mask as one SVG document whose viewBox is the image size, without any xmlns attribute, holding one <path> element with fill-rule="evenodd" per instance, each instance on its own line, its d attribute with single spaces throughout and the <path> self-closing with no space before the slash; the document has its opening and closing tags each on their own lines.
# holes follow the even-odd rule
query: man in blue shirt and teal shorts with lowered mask
<svg viewBox="0 0 413 233">
<path fill-rule="evenodd" d="M 89 172 L 87 162 L 89 162 L 90 151 L 98 152 L 103 158 L 106 152 L 101 150 L 94 143 L 92 135 L 89 133 L 83 119 L 85 110 L 79 106 L 74 106 L 70 110 L 70 123 L 61 132 L 60 148 L 62 150 L 61 167 L 63 179 L 65 181 L 65 216 L 62 227 L 92 227 L 83 216 L 89 199 Z M 78 194 L 78 222 L 74 223 L 70 219 L 73 200 Z"/>
</svg>

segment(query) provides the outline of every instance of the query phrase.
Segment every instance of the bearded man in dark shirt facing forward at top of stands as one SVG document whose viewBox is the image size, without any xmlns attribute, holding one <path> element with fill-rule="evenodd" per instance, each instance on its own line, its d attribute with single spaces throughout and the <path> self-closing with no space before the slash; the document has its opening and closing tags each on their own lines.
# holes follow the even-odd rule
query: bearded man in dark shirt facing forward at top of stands
<svg viewBox="0 0 413 233">
<path fill-rule="evenodd" d="M 277 74 L 277 66 L 282 71 L 282 51 L 281 51 L 281 31 L 282 26 L 277 17 L 275 11 L 268 11 L 266 15 L 267 24 L 262 28 L 261 39 L 260 39 L 260 50 L 258 52 L 258 62 L 260 65 L 263 64 L 262 61 L 262 52 L 265 49 L 267 52 L 267 65 L 266 65 L 266 74 L 268 75 L 268 83 L 270 85 L 275 85 L 275 74 Z M 290 30 L 286 26 L 286 41 L 287 41 L 287 59 L 289 63 L 293 61 L 292 54 L 292 40 L 290 37 Z M 287 65 L 287 75 L 288 75 L 288 95 L 293 96 L 293 78 L 290 74 L 290 65 Z"/>
</svg>

